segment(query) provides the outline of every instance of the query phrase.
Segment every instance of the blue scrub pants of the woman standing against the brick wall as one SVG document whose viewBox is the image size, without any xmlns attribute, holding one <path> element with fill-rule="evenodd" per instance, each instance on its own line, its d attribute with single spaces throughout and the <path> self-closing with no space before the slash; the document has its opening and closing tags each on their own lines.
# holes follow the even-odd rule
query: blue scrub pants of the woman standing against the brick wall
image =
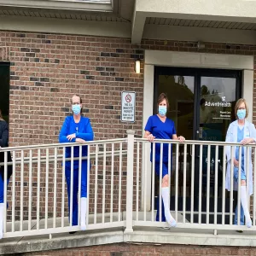
<svg viewBox="0 0 256 256">
<path fill-rule="evenodd" d="M 70 207 L 71 207 L 71 169 L 66 166 L 65 176 L 67 182 L 67 197 L 68 197 L 68 214 L 70 218 Z M 79 203 L 78 203 L 78 193 L 79 193 L 79 168 L 73 169 L 73 218 L 72 225 L 76 226 L 79 224 Z M 87 197 L 87 160 L 82 161 L 81 170 L 81 197 Z"/>
</svg>

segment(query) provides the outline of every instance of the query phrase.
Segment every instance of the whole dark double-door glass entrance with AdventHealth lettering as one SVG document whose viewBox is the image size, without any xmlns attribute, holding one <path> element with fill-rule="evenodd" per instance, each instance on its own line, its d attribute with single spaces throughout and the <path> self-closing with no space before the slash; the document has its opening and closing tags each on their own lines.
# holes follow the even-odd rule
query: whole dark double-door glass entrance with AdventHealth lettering
<svg viewBox="0 0 256 256">
<path fill-rule="evenodd" d="M 241 97 L 241 71 L 155 67 L 154 69 L 154 113 L 157 112 L 157 98 L 160 93 L 166 93 L 169 100 L 167 117 L 176 125 L 177 135 L 183 135 L 187 140 L 224 142 L 230 123 L 236 119 L 234 109 L 237 99 Z M 207 206 L 207 146 L 202 150 L 202 177 L 199 175 L 199 147 L 195 147 L 195 194 L 194 212 L 198 211 L 199 186 L 201 184 L 201 212 L 206 212 Z M 191 150 L 187 150 L 187 188 L 191 189 Z M 172 150 L 172 170 L 175 170 L 175 149 Z M 210 161 L 215 160 L 215 148 L 211 147 Z M 222 212 L 222 181 L 223 149 L 218 148 L 218 212 Z M 179 155 L 179 170 L 183 170 L 183 152 Z M 214 212 L 215 164 L 210 167 L 210 212 Z M 173 173 L 172 173 L 173 177 Z M 178 176 L 178 211 L 183 211 L 183 173 Z M 175 210 L 175 178 L 171 178 L 171 210 Z M 158 189 L 156 189 L 158 191 Z M 225 195 L 225 212 L 230 211 L 229 194 Z M 190 195 L 186 195 L 186 209 L 189 212 Z M 235 209 L 236 207 L 233 207 Z M 186 215 L 190 218 L 190 215 Z M 198 215 L 194 214 L 194 223 Z M 213 214 L 210 214 L 213 223 Z M 227 222 L 229 219 L 227 219 Z M 221 222 L 221 216 L 218 223 Z M 201 215 L 201 223 L 206 223 L 205 215 Z"/>
</svg>

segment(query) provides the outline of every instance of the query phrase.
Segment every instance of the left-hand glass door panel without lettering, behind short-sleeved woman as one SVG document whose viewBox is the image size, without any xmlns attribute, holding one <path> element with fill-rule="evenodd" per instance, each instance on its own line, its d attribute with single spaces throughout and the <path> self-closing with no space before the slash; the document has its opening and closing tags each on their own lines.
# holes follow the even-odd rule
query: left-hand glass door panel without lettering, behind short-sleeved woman
<svg viewBox="0 0 256 256">
<path fill-rule="evenodd" d="M 160 93 L 166 93 L 169 101 L 169 111 L 166 116 L 175 123 L 176 130 L 179 135 L 183 135 L 186 139 L 194 139 L 194 123 L 195 123 L 195 74 L 189 69 L 176 68 L 156 68 L 155 92 L 154 92 L 154 113 L 157 113 L 157 98 Z M 172 173 L 171 173 L 171 209 L 175 209 L 175 166 L 176 166 L 176 148 L 172 145 Z M 187 200 L 186 209 L 190 209 L 190 191 L 191 191 L 191 155 L 189 148 L 186 155 L 187 172 L 186 172 L 186 191 Z M 179 170 L 183 171 L 183 147 L 180 147 L 178 159 Z M 179 172 L 178 183 L 183 184 L 183 172 Z M 159 179 L 155 178 L 157 185 L 155 187 L 156 203 L 159 191 Z M 156 204 L 155 204 L 156 205 Z M 178 186 L 178 210 L 182 211 L 183 207 L 183 185 Z"/>
</svg>

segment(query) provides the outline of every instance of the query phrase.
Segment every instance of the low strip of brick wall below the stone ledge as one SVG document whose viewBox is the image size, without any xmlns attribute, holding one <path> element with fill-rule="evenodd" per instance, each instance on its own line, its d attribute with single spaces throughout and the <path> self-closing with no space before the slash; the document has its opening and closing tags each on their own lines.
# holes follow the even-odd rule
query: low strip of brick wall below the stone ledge
<svg viewBox="0 0 256 256">
<path fill-rule="evenodd" d="M 183 255 L 256 255 L 255 247 L 208 247 L 189 245 L 133 245 L 114 244 L 93 247 L 77 247 L 74 249 L 62 249 L 48 252 L 24 253 L 22 255 L 63 255 L 63 256 L 183 256 Z"/>
</svg>

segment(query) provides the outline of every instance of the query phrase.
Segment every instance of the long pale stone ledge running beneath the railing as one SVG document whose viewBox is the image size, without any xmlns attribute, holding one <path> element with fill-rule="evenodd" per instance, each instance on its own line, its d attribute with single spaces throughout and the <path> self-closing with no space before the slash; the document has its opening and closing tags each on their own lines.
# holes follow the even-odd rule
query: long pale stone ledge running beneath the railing
<svg viewBox="0 0 256 256">
<path fill-rule="evenodd" d="M 3 239 L 0 242 L 0 255 L 12 253 L 32 253 L 68 249 L 73 247 L 90 247 L 118 243 L 136 244 L 176 244 L 194 246 L 222 247 L 256 247 L 253 231 L 237 233 L 235 230 L 218 231 L 213 235 L 212 230 L 191 230 L 160 228 L 136 228 L 132 233 L 125 233 L 123 228 L 111 230 L 79 231 L 70 235 L 67 233 L 49 236 L 28 236 L 21 239 Z"/>
</svg>

